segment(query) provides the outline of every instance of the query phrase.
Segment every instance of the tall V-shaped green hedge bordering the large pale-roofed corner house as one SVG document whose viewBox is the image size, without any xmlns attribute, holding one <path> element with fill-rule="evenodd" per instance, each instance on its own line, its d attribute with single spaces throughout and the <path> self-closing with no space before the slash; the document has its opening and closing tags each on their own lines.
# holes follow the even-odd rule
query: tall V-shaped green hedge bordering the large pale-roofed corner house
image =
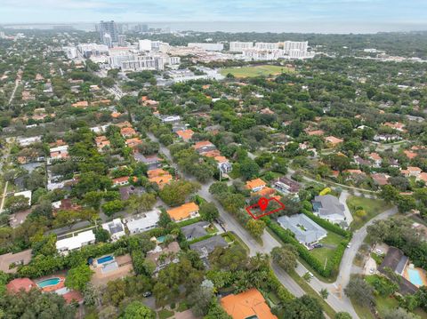
<svg viewBox="0 0 427 319">
<path fill-rule="evenodd" d="M 331 277 L 338 272 L 340 267 L 342 255 L 344 254 L 345 248 L 349 243 L 349 239 L 344 239 L 342 242 L 336 247 L 334 251 L 334 256 L 331 259 L 327 260 L 326 267 L 323 265 L 316 257 L 310 254 L 310 251 L 301 243 L 299 243 L 294 235 L 287 229 L 284 229 L 278 223 L 271 221 L 271 219 L 264 219 L 267 223 L 267 226 L 274 232 L 274 234 L 278 235 L 284 243 L 291 243 L 297 249 L 299 256 L 307 262 L 310 267 L 312 267 L 319 275 L 324 277 Z"/>
</svg>

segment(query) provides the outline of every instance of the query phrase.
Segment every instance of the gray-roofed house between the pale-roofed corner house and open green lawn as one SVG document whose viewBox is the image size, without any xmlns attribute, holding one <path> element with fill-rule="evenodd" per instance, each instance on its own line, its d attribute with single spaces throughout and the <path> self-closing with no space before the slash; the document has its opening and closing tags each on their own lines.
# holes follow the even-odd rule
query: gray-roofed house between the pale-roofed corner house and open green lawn
<svg viewBox="0 0 427 319">
<path fill-rule="evenodd" d="M 316 196 L 311 203 L 313 204 L 313 212 L 321 219 L 326 219 L 342 227 L 349 226 L 345 217 L 345 207 L 335 196 Z"/>
</svg>

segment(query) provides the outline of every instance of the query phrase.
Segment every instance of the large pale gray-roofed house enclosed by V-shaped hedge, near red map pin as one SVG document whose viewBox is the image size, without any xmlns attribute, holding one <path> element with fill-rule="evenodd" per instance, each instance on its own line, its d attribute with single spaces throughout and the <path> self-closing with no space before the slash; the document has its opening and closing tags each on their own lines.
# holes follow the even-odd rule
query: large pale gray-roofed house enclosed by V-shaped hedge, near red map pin
<svg viewBox="0 0 427 319">
<path fill-rule="evenodd" d="M 318 226 L 318 224 L 304 214 L 280 216 L 278 223 L 281 227 L 293 232 L 298 242 L 302 243 L 308 249 L 312 249 L 316 243 L 327 235 L 325 229 Z"/>
</svg>

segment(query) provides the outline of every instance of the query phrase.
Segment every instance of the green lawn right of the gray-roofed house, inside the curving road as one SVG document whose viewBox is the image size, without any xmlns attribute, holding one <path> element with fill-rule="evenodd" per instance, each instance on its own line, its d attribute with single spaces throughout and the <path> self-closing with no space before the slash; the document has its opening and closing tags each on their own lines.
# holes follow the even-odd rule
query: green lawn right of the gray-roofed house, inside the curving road
<svg viewBox="0 0 427 319">
<path fill-rule="evenodd" d="M 379 213 L 391 209 L 391 203 L 386 203 L 382 199 L 372 199 L 359 196 L 350 196 L 347 199 L 347 205 L 353 215 L 353 221 L 351 222 L 351 230 L 356 230 L 367 223 L 368 220 L 373 219 Z M 356 211 L 364 210 L 367 214 L 360 218 L 356 216 Z"/>
</svg>

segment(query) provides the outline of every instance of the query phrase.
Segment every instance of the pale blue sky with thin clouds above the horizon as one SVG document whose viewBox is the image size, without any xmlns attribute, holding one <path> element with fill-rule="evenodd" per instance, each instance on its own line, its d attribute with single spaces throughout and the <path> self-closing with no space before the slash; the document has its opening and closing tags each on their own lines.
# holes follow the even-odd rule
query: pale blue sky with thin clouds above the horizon
<svg viewBox="0 0 427 319">
<path fill-rule="evenodd" d="M 427 29 L 427 0 L 0 0 L 0 23 L 99 20 L 268 21 L 310 28 L 375 24 L 384 31 L 419 30 Z"/>
</svg>

